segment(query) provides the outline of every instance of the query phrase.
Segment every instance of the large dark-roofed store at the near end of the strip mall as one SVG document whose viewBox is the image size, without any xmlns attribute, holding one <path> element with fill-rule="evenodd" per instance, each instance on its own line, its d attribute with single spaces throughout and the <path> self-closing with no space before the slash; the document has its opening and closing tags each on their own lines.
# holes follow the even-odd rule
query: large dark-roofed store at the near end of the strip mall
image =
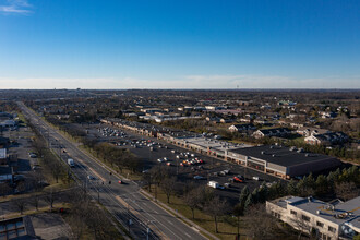
<svg viewBox="0 0 360 240">
<path fill-rule="evenodd" d="M 302 148 L 262 145 L 228 151 L 226 160 L 241 164 L 284 179 L 317 172 L 340 165 L 332 156 L 304 153 Z"/>
</svg>

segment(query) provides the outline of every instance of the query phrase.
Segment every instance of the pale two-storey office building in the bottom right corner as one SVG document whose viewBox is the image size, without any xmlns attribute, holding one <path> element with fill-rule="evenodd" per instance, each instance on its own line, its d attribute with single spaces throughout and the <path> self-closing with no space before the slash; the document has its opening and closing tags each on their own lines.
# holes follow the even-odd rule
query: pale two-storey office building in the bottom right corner
<svg viewBox="0 0 360 240">
<path fill-rule="evenodd" d="M 317 239 L 352 239 L 360 233 L 360 196 L 329 203 L 311 196 L 286 196 L 266 202 L 266 211 L 300 231 L 315 235 Z"/>
</svg>

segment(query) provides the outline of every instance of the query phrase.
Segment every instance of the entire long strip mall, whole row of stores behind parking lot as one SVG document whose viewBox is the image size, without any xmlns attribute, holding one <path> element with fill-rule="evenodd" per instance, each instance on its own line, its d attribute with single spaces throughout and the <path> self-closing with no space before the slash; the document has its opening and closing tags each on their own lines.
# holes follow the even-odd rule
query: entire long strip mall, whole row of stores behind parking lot
<svg viewBox="0 0 360 240">
<path fill-rule="evenodd" d="M 173 145 L 188 148 L 200 154 L 217 157 L 233 164 L 243 165 L 279 178 L 290 179 L 310 172 L 335 168 L 340 165 L 337 158 L 313 153 L 304 153 L 296 147 L 278 145 L 251 146 L 219 141 L 201 134 L 155 127 L 124 120 L 101 120 L 139 134 L 155 136 Z"/>
</svg>

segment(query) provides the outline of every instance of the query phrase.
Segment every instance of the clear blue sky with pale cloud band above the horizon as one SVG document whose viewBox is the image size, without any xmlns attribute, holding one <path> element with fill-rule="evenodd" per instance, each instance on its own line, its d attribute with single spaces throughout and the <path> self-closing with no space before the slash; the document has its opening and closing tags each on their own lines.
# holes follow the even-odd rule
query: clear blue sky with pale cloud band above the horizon
<svg viewBox="0 0 360 240">
<path fill-rule="evenodd" d="M 360 88 L 359 0 L 0 0 L 0 88 Z"/>
</svg>

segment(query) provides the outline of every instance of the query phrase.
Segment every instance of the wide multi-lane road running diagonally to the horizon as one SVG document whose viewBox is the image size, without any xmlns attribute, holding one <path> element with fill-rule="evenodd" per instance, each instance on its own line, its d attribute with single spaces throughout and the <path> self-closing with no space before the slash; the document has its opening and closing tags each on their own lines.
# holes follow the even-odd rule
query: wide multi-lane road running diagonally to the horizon
<svg viewBox="0 0 360 240">
<path fill-rule="evenodd" d="M 125 180 L 125 184 L 120 184 L 120 178 L 115 172 L 110 173 L 111 169 L 80 149 L 23 103 L 17 104 L 25 117 L 46 136 L 50 147 L 58 151 L 64 163 L 68 157 L 74 159 L 75 167 L 72 171 L 80 183 L 94 199 L 99 200 L 121 225 L 130 229 L 134 239 L 206 239 L 195 228 L 185 225 L 141 194 L 135 182 Z"/>
</svg>

